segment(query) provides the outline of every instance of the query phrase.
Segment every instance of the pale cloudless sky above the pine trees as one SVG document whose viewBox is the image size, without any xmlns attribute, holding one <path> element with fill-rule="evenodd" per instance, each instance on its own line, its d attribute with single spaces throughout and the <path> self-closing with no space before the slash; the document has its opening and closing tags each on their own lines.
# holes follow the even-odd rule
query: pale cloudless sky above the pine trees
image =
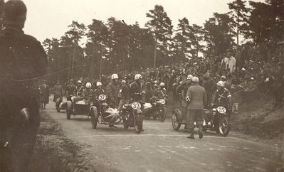
<svg viewBox="0 0 284 172">
<path fill-rule="evenodd" d="M 111 16 L 127 24 L 136 21 L 140 27 L 149 20 L 146 13 L 156 4 L 162 5 L 172 20 L 174 28 L 178 20 L 186 17 L 190 24 L 203 25 L 214 12 L 226 13 L 233 0 L 23 0 L 28 8 L 23 31 L 38 41 L 61 38 L 72 21 L 88 26 L 92 19 L 106 23 Z M 264 1 L 264 0 L 258 0 Z"/>
</svg>

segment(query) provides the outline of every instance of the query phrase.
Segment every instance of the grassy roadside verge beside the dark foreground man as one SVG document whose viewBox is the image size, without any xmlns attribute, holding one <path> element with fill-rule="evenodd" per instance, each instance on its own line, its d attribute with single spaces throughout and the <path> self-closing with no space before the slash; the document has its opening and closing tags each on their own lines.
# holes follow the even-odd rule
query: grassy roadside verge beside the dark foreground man
<svg viewBox="0 0 284 172">
<path fill-rule="evenodd" d="M 95 171 L 89 163 L 88 154 L 68 139 L 60 124 L 41 112 L 41 126 L 38 129 L 31 172 Z"/>
</svg>

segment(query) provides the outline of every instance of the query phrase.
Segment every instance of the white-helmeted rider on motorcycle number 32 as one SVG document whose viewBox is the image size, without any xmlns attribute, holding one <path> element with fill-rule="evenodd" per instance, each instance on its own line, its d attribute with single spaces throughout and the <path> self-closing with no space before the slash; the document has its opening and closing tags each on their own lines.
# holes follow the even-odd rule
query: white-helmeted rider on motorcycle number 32
<svg viewBox="0 0 284 172">
<path fill-rule="evenodd" d="M 219 104 L 224 107 L 232 107 L 232 95 L 231 92 L 225 88 L 223 81 L 217 82 L 217 90 L 214 94 L 213 104 Z"/>
</svg>

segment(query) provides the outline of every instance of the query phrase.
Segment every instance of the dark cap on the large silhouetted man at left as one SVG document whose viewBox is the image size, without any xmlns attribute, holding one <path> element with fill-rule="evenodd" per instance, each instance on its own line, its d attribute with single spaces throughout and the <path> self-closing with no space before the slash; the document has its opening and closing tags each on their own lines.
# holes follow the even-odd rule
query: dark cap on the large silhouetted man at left
<svg viewBox="0 0 284 172">
<path fill-rule="evenodd" d="M 15 19 L 26 11 L 26 5 L 21 0 L 9 0 L 4 5 L 4 16 L 8 19 Z"/>
</svg>

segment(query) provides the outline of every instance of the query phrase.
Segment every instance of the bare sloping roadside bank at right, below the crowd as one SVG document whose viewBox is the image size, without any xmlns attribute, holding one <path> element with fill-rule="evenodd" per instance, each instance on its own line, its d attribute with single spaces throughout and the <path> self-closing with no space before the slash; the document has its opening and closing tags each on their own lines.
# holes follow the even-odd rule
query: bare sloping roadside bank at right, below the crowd
<svg viewBox="0 0 284 172">
<path fill-rule="evenodd" d="M 269 95 L 243 101 L 239 104 L 238 114 L 231 116 L 232 130 L 261 139 L 283 141 L 284 107 L 273 107 L 271 102 Z"/>
</svg>

